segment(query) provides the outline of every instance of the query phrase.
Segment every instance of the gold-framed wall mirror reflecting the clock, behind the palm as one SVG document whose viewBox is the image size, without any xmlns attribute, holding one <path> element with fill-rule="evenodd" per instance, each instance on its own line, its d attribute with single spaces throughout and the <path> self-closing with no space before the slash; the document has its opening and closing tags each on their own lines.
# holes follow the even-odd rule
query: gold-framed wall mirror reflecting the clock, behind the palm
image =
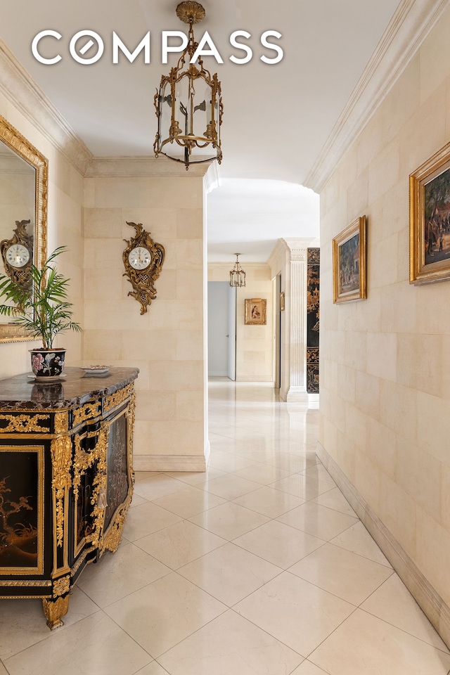
<svg viewBox="0 0 450 675">
<path fill-rule="evenodd" d="M 30 283 L 27 262 L 46 259 L 49 162 L 0 116 L 0 271 Z M 4 319 L 4 317 L 1 317 Z M 12 321 L 0 323 L 0 342 L 30 340 Z"/>
</svg>

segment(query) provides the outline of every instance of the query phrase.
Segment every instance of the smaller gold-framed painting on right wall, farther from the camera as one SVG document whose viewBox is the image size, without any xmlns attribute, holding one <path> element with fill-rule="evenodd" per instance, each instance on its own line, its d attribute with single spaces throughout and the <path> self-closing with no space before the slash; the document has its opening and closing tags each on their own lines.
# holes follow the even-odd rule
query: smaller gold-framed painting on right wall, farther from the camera
<svg viewBox="0 0 450 675">
<path fill-rule="evenodd" d="M 333 239 L 333 302 L 366 297 L 366 216 L 361 216 Z"/>
</svg>

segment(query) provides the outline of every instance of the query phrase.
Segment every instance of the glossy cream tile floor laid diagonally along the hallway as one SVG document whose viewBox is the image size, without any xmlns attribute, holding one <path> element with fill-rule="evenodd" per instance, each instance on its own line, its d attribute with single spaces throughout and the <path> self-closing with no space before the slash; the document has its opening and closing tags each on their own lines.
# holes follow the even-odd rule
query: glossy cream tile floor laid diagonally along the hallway
<svg viewBox="0 0 450 675">
<path fill-rule="evenodd" d="M 447 675 L 450 653 L 316 457 L 319 411 L 210 383 L 207 473 L 140 473 L 65 626 L 0 601 L 0 675 Z"/>
</svg>

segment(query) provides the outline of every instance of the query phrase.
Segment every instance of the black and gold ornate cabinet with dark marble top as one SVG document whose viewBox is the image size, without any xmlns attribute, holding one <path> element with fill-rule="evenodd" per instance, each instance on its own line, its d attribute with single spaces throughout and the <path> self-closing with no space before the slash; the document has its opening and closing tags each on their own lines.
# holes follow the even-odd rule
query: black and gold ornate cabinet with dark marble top
<svg viewBox="0 0 450 675">
<path fill-rule="evenodd" d="M 0 380 L 0 598 L 41 598 L 51 629 L 84 566 L 120 544 L 138 373 Z"/>
</svg>

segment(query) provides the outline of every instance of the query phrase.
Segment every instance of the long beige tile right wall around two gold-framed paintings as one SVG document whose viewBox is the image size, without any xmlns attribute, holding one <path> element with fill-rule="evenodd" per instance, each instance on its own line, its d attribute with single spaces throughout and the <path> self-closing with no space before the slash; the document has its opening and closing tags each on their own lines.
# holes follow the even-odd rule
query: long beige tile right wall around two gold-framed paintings
<svg viewBox="0 0 450 675">
<path fill-rule="evenodd" d="M 320 441 L 450 605 L 448 281 L 409 284 L 409 174 L 450 140 L 450 10 L 321 195 Z M 334 305 L 332 239 L 368 220 L 367 300 Z"/>
</svg>

